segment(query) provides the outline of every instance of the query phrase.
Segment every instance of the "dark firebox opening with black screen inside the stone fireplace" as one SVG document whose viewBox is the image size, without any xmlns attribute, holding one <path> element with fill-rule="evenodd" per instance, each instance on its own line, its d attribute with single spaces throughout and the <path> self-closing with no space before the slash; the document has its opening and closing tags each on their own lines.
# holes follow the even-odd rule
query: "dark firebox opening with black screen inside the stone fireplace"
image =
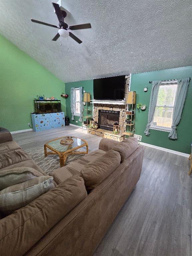
<svg viewBox="0 0 192 256">
<path fill-rule="evenodd" d="M 119 123 L 119 114 L 120 111 L 112 110 L 99 110 L 98 124 L 99 128 L 113 131 L 114 123 Z"/>
</svg>

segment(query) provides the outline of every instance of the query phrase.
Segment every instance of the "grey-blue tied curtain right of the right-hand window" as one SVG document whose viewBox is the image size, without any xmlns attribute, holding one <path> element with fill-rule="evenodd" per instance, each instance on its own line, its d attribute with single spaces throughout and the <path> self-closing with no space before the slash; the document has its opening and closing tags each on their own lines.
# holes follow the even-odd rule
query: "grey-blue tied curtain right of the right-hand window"
<svg viewBox="0 0 192 256">
<path fill-rule="evenodd" d="M 189 87 L 189 80 L 190 78 L 179 79 L 177 82 L 177 93 L 175 96 L 175 103 L 173 107 L 173 122 L 171 125 L 171 132 L 169 133 L 168 137 L 170 139 L 177 139 L 177 131 L 176 127 L 181 120 L 181 114 L 183 111 L 185 99 L 187 96 L 187 91 Z"/>
</svg>

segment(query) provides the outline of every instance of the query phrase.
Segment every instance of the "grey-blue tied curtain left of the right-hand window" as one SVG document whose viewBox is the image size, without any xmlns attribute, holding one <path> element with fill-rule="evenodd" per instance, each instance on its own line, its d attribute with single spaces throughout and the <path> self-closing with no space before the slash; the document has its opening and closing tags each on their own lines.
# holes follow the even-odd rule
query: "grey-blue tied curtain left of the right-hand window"
<svg viewBox="0 0 192 256">
<path fill-rule="evenodd" d="M 148 113 L 148 123 L 146 126 L 146 129 L 144 131 L 145 135 L 149 135 L 149 127 L 151 125 L 151 122 L 153 120 L 153 116 L 155 113 L 155 107 L 157 104 L 157 96 L 159 91 L 159 85 L 161 84 L 161 81 L 153 81 L 152 82 L 152 89 L 151 89 L 151 98 L 149 103 L 149 113 Z"/>
</svg>

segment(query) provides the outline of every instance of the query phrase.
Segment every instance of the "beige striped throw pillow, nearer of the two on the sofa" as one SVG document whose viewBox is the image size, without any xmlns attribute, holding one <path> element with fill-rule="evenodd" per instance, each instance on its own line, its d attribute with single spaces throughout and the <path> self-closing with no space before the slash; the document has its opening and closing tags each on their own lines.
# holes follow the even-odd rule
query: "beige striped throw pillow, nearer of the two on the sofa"
<svg viewBox="0 0 192 256">
<path fill-rule="evenodd" d="M 10 214 L 54 188 L 53 177 L 40 176 L 0 191 L 0 211 Z"/>
</svg>

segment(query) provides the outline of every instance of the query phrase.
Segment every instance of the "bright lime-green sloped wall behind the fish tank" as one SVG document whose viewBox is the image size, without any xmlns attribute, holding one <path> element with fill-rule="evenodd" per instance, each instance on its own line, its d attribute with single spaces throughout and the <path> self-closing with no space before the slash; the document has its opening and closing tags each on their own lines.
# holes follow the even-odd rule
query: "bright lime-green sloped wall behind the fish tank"
<svg viewBox="0 0 192 256">
<path fill-rule="evenodd" d="M 29 55 L 0 35 L 0 126 L 17 131 L 29 129 L 33 98 L 44 94 L 61 100 L 65 84 Z"/>
</svg>

